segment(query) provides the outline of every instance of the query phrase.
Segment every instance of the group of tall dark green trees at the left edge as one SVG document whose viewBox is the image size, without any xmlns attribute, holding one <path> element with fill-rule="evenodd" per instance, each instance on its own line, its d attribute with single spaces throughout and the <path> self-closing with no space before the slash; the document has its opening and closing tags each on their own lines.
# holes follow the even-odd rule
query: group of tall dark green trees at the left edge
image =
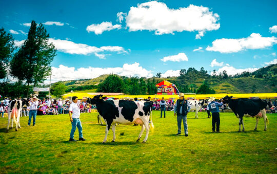
<svg viewBox="0 0 277 174">
<path fill-rule="evenodd" d="M 7 78 L 0 84 L 0 91 L 6 96 L 29 97 L 31 87 L 39 87 L 51 74 L 56 49 L 49 37 L 43 24 L 33 20 L 27 39 L 16 47 L 13 36 L 0 29 L 0 79 Z M 9 74 L 17 81 L 11 83 Z"/>
</svg>

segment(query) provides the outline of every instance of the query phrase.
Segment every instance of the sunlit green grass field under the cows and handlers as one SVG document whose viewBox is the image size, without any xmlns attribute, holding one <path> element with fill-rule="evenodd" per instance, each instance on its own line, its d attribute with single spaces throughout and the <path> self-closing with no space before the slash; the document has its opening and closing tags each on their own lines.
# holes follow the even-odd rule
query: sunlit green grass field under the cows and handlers
<svg viewBox="0 0 277 174">
<path fill-rule="evenodd" d="M 160 118 L 153 112 L 155 128 L 148 142 L 136 142 L 140 126 L 116 126 L 108 142 L 101 144 L 105 126 L 97 124 L 96 113 L 81 114 L 87 141 L 68 142 L 68 115 L 37 116 L 36 126 L 5 133 L 7 118 L 0 118 L 0 173 L 277 173 L 277 114 L 268 114 L 268 131 L 260 120 L 244 118 L 245 133 L 238 133 L 239 119 L 221 113 L 221 131 L 211 133 L 211 119 L 200 113 L 188 115 L 189 136 L 177 133 L 176 118 L 167 112 Z M 120 134 L 124 133 L 123 136 Z M 75 138 L 78 139 L 76 130 Z"/>
</svg>

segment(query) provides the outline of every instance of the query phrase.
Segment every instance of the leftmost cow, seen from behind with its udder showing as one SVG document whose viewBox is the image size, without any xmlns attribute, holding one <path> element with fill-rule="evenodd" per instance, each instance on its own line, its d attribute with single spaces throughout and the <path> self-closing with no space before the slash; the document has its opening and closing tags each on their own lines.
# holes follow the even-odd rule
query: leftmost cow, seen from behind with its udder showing
<svg viewBox="0 0 277 174">
<path fill-rule="evenodd" d="M 12 119 L 12 124 L 11 124 L 11 128 L 13 127 L 13 121 L 16 124 L 15 130 L 18 130 L 18 127 L 21 128 L 20 123 L 19 123 L 19 119 L 20 119 L 20 115 L 21 115 L 21 111 L 22 111 L 22 107 L 26 105 L 29 106 L 29 102 L 26 99 L 23 100 L 12 100 L 9 105 L 8 105 L 8 126 L 7 126 L 7 130 L 6 132 L 8 132 L 9 130 L 9 126 L 10 126 L 10 120 Z"/>
</svg>

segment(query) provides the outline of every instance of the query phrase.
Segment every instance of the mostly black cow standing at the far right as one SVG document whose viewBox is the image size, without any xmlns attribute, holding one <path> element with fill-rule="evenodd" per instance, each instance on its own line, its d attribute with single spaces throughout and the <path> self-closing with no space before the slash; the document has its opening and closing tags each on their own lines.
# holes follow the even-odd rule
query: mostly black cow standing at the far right
<svg viewBox="0 0 277 174">
<path fill-rule="evenodd" d="M 248 99 L 248 98 L 239 98 L 239 99 L 232 99 L 233 96 L 225 96 L 222 98 L 223 103 L 228 104 L 231 110 L 234 112 L 237 118 L 240 119 L 239 125 L 241 132 L 241 125 L 243 125 L 244 131 L 244 123 L 243 123 L 243 116 L 247 117 L 256 117 L 256 126 L 254 130 L 257 130 L 259 118 L 264 118 L 265 122 L 265 129 L 267 129 L 266 123 L 268 123 L 268 118 L 266 116 L 266 101 L 261 99 Z"/>
</svg>

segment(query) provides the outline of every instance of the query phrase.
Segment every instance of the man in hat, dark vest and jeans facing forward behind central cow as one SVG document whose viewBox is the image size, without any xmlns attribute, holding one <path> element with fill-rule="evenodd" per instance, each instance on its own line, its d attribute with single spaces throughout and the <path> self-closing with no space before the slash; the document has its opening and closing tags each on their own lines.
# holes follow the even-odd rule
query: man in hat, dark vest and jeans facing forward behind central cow
<svg viewBox="0 0 277 174">
<path fill-rule="evenodd" d="M 177 125 L 178 125 L 178 133 L 176 135 L 181 134 L 181 124 L 183 119 L 184 129 L 185 129 L 185 136 L 188 136 L 188 123 L 187 123 L 187 114 L 190 110 L 190 104 L 187 100 L 184 98 L 184 94 L 179 94 L 180 99 L 176 101 L 175 107 L 174 107 L 174 116 L 176 116 L 177 113 Z"/>
</svg>

